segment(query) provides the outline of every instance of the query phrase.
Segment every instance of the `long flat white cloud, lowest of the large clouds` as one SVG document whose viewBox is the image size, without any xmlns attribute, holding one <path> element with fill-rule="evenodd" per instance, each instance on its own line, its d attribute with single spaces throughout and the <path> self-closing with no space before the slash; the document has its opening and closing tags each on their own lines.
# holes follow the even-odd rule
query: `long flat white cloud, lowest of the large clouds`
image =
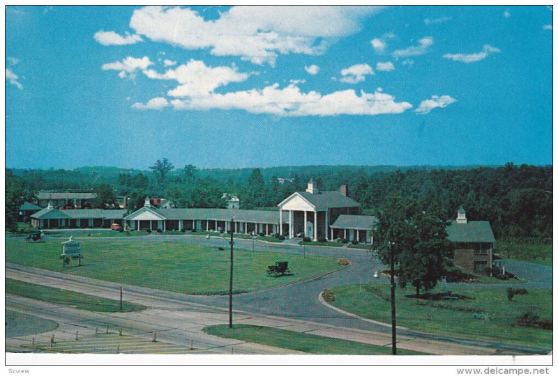
<svg viewBox="0 0 558 376">
<path fill-rule="evenodd" d="M 411 104 L 395 102 L 392 95 L 379 91 L 372 94 L 361 91 L 357 95 L 354 90 L 347 90 L 321 95 L 315 91 L 301 93 L 294 84 L 282 89 L 274 84 L 261 90 L 213 93 L 170 103 L 178 110 L 241 109 L 277 116 L 378 115 L 402 113 L 412 108 Z"/>
</svg>

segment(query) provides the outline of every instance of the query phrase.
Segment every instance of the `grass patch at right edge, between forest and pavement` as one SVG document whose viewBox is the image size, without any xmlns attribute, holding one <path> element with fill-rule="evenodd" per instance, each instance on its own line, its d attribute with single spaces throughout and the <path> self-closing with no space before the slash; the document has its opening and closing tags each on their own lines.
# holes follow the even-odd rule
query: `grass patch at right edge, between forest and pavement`
<svg viewBox="0 0 558 376">
<path fill-rule="evenodd" d="M 504 258 L 552 266 L 552 243 L 542 244 L 520 238 L 502 239 L 498 240 L 495 252 Z"/>
</svg>

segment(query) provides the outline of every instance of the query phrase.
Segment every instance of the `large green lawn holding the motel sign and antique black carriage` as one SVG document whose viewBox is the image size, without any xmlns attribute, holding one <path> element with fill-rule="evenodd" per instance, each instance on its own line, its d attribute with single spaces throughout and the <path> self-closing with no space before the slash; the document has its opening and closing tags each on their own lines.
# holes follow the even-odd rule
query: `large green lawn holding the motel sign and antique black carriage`
<svg viewBox="0 0 558 376">
<path fill-rule="evenodd" d="M 103 281 L 188 294 L 224 294 L 229 288 L 229 249 L 182 242 L 82 240 L 81 267 L 62 268 L 59 242 L 6 242 L 6 262 Z M 268 265 L 288 261 L 293 276 L 267 276 Z M 234 290 L 247 292 L 326 274 L 344 266 L 334 258 L 234 249 Z"/>
</svg>

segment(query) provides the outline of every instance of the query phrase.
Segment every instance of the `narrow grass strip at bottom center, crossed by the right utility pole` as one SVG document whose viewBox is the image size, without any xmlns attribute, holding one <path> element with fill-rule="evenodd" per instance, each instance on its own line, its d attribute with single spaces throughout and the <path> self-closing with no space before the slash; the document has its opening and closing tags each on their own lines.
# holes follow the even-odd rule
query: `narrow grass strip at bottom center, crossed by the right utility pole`
<svg viewBox="0 0 558 376">
<path fill-rule="evenodd" d="M 234 338 L 310 354 L 391 355 L 389 346 L 368 345 L 352 340 L 255 325 L 236 324 L 232 329 L 229 329 L 228 325 L 213 325 L 204 327 L 203 331 L 213 336 Z M 425 355 L 425 353 L 402 349 L 398 350 L 398 354 Z"/>
</svg>

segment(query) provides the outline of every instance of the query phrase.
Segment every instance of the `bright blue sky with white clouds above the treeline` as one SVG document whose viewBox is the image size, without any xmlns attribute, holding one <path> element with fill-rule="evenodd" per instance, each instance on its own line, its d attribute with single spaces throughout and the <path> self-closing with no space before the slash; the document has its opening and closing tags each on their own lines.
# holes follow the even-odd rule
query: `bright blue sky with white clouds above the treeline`
<svg viewBox="0 0 558 376">
<path fill-rule="evenodd" d="M 547 6 L 6 8 L 6 166 L 552 164 Z"/>
</svg>

